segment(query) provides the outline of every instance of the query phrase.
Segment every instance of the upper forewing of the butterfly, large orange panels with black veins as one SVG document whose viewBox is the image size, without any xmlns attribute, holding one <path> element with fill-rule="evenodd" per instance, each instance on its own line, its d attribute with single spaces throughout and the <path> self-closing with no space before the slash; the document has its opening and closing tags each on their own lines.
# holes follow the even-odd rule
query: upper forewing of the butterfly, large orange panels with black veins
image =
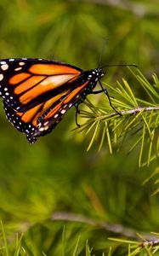
<svg viewBox="0 0 159 256">
<path fill-rule="evenodd" d="M 0 61 L 0 96 L 10 108 L 25 112 L 45 102 L 76 79 L 82 70 L 60 61 L 3 59 Z"/>
</svg>

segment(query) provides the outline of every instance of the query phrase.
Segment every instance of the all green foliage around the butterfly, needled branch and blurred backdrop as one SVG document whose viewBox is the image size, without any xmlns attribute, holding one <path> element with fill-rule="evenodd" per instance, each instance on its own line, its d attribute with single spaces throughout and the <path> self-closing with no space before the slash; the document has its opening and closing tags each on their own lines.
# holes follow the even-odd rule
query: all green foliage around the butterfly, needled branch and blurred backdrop
<svg viewBox="0 0 159 256">
<path fill-rule="evenodd" d="M 128 112 L 157 108 L 158 1 L 2 0 L 0 14 L 2 58 L 58 59 L 87 70 L 97 67 L 106 40 L 100 66 L 135 63 L 142 72 L 106 70 L 103 84 L 122 117 L 104 94 L 88 96 L 91 111 L 80 106 L 81 130 L 95 132 L 88 153 L 89 132 L 71 131 L 75 110 L 31 147 L 1 108 L 0 254 L 158 255 L 153 242 L 139 247 L 158 239 L 150 233 L 159 226 L 157 111 Z"/>
</svg>

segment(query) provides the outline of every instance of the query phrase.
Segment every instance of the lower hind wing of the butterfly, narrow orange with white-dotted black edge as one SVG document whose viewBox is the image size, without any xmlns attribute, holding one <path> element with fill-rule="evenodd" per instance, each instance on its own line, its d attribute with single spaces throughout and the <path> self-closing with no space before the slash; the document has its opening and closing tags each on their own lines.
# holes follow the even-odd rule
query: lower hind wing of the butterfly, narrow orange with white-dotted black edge
<svg viewBox="0 0 159 256">
<path fill-rule="evenodd" d="M 38 104 L 26 112 L 17 112 L 3 101 L 3 107 L 9 121 L 18 131 L 26 133 L 29 143 L 35 143 L 37 137 L 44 136 L 52 131 L 63 118 L 63 115 L 73 106 L 80 97 L 82 89 L 88 82 L 75 90 L 61 93 L 59 98 L 49 99 Z"/>
</svg>

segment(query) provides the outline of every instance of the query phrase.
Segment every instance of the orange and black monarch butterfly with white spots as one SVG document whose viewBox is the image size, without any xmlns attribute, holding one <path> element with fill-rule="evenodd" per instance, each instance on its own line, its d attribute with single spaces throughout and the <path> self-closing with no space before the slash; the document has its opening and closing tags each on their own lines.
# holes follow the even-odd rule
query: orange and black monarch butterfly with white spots
<svg viewBox="0 0 159 256">
<path fill-rule="evenodd" d="M 113 66 L 113 65 L 111 65 Z M 122 65 L 126 66 L 126 65 Z M 132 66 L 132 65 L 131 65 Z M 60 61 L 15 58 L 0 60 L 0 96 L 12 125 L 26 134 L 29 143 L 52 131 L 72 107 L 93 92 L 102 68 L 82 71 Z M 113 108 L 113 106 L 111 105 Z"/>
</svg>

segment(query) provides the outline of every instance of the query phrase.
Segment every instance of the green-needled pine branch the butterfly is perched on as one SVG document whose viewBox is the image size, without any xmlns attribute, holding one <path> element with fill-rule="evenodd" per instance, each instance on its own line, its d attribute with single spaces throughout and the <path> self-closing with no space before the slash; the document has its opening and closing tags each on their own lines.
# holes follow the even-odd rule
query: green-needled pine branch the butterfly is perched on
<svg viewBox="0 0 159 256">
<path fill-rule="evenodd" d="M 95 107 L 87 100 L 85 103 L 88 110 L 80 111 L 81 117 L 87 120 L 78 131 L 85 131 L 89 137 L 88 150 L 96 140 L 100 150 L 106 139 L 112 154 L 113 144 L 118 143 L 120 148 L 119 143 L 122 144 L 125 140 L 128 154 L 138 148 L 139 166 L 149 165 L 159 154 L 159 81 L 156 75 L 153 75 L 153 84 L 150 84 L 138 69 L 136 73 L 133 73 L 133 69 L 128 69 L 133 74 L 135 85 L 128 84 L 125 79 L 122 79 L 122 83 L 117 82 L 116 88 L 105 84 L 105 88 L 115 95 L 111 102 L 121 116 L 112 111 L 108 101 L 105 106 Z M 132 88 L 136 86 L 142 86 L 145 99 L 134 95 Z"/>
</svg>

